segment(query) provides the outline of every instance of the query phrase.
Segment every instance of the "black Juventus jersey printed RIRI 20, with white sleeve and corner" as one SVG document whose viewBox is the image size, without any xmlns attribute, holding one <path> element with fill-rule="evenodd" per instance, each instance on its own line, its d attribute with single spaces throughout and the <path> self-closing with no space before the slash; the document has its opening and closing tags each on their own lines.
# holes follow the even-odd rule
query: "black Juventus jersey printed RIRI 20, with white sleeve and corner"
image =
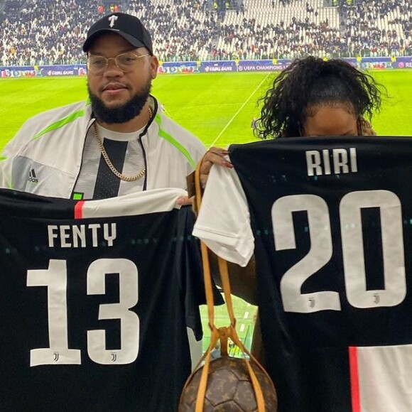
<svg viewBox="0 0 412 412">
<path fill-rule="evenodd" d="M 196 236 L 256 257 L 279 412 L 412 411 L 412 141 L 233 145 Z"/>
</svg>

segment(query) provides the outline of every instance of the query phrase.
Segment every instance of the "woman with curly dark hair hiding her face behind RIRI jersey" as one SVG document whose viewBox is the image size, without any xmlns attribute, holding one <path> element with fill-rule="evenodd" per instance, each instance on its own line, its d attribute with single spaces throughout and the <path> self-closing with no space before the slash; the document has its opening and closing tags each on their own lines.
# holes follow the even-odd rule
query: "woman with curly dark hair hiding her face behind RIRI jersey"
<svg viewBox="0 0 412 412">
<path fill-rule="evenodd" d="M 276 76 L 272 87 L 260 99 L 261 117 L 256 136 L 280 139 L 296 136 L 374 136 L 369 121 L 381 108 L 383 85 L 371 75 L 344 60 L 297 59 Z M 205 185 L 212 164 L 232 168 L 228 152 L 210 148 L 200 167 Z M 244 268 L 229 264 L 232 291 L 256 304 L 254 259 Z M 219 283 L 219 281 L 217 280 Z M 261 331 L 257 318 L 252 352 L 264 361 Z"/>
</svg>

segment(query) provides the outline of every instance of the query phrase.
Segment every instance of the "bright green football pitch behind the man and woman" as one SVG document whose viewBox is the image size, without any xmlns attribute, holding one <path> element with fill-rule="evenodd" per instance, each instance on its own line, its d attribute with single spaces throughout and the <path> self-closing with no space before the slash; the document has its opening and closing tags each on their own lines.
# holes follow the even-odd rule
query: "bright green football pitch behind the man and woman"
<svg viewBox="0 0 412 412">
<path fill-rule="evenodd" d="M 376 71 L 389 99 L 374 116 L 380 135 L 412 136 L 412 70 Z M 201 75 L 160 75 L 153 82 L 153 94 L 164 104 L 169 116 L 196 134 L 206 146 L 254 141 L 251 120 L 259 116 L 257 101 L 271 85 L 273 73 L 205 73 Z M 86 99 L 85 78 L 49 77 L 0 80 L 0 149 L 18 131 L 23 121 L 46 109 Z M 256 309 L 234 299 L 237 330 L 249 347 Z M 218 326 L 227 325 L 225 308 L 215 310 Z M 202 308 L 204 346 L 210 335 L 206 311 Z"/>
</svg>

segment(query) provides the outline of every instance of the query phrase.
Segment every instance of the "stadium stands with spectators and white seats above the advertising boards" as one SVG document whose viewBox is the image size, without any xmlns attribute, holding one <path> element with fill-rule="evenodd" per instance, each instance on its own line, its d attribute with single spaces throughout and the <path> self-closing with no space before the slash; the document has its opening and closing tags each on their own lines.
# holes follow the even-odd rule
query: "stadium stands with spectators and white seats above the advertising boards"
<svg viewBox="0 0 412 412">
<path fill-rule="evenodd" d="M 409 0 L 0 0 L 0 65 L 84 63 L 90 23 L 132 13 L 164 61 L 412 55 Z"/>
</svg>

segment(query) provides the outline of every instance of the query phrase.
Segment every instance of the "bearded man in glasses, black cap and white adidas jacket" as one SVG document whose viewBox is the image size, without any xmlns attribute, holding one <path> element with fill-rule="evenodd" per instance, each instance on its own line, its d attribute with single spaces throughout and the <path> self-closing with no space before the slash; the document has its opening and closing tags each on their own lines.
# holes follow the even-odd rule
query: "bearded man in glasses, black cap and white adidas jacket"
<svg viewBox="0 0 412 412">
<path fill-rule="evenodd" d="M 26 121 L 2 153 L 1 186 L 76 200 L 185 189 L 205 148 L 151 96 L 158 59 L 141 21 L 104 16 L 83 50 L 90 99 Z"/>
</svg>

